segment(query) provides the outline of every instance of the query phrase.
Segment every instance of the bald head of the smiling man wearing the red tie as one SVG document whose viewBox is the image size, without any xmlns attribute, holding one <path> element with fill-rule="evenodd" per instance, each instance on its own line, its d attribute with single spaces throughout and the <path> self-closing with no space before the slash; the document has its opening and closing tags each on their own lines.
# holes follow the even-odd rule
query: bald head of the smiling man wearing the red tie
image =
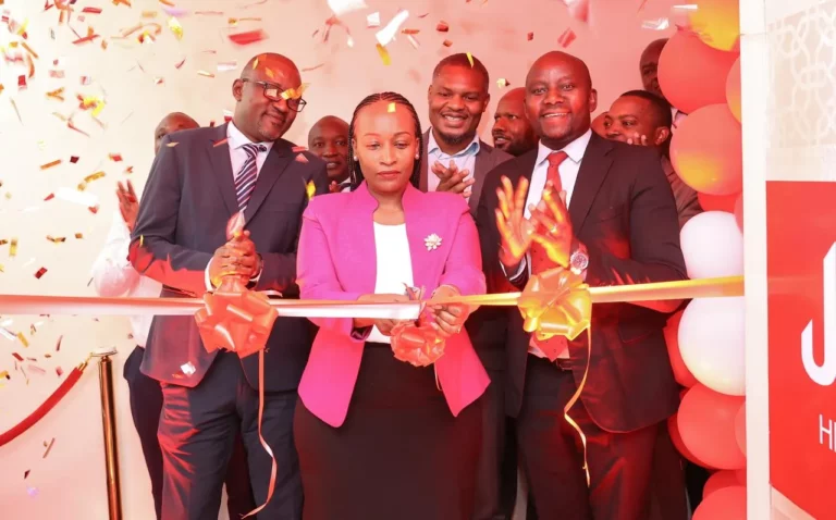
<svg viewBox="0 0 836 520">
<path fill-rule="evenodd" d="M 595 108 L 598 92 L 582 60 L 552 51 L 531 65 L 526 76 L 526 115 L 546 147 L 561 150 L 586 134 Z"/>
</svg>

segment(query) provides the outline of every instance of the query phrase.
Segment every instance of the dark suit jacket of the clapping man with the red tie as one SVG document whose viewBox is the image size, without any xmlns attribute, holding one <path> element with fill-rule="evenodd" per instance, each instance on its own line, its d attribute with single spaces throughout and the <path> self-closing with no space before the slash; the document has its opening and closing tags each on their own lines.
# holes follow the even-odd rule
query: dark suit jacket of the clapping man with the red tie
<svg viewBox="0 0 836 520">
<path fill-rule="evenodd" d="M 484 181 L 477 224 L 489 292 L 507 290 L 499 262 L 500 236 L 494 209 L 500 177 L 516 186 L 531 178 L 537 150 L 493 170 Z M 644 147 L 613 143 L 592 134 L 569 205 L 577 238 L 589 249 L 587 283 L 617 285 L 684 280 L 676 202 L 659 156 Z M 624 282 L 629 283 L 629 282 Z M 628 432 L 657 423 L 676 412 L 674 381 L 662 329 L 667 314 L 630 304 L 595 305 L 592 356 L 581 394 L 595 423 L 611 432 Z M 587 364 L 587 334 L 569 344 L 575 380 Z M 530 335 L 517 309 L 509 313 L 507 412 L 519 412 L 525 388 Z M 555 370 L 557 370 L 555 368 Z"/>
</svg>

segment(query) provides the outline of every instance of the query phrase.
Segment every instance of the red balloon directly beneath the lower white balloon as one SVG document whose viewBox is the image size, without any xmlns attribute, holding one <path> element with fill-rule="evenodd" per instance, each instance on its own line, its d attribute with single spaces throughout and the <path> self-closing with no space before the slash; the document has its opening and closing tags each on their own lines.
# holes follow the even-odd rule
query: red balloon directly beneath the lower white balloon
<svg viewBox="0 0 836 520">
<path fill-rule="evenodd" d="M 718 394 L 703 385 L 688 391 L 676 422 L 683 444 L 697 460 L 724 470 L 746 466 L 746 457 L 735 439 L 735 416 L 742 403 L 742 397 Z"/>
</svg>

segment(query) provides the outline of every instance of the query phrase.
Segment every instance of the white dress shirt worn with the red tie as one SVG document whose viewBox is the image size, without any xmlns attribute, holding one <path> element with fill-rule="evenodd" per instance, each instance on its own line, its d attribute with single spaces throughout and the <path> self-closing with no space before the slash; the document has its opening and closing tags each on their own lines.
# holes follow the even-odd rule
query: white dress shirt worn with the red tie
<svg viewBox="0 0 836 520">
<path fill-rule="evenodd" d="M 560 166 L 557 166 L 557 172 L 561 175 L 561 186 L 564 191 L 566 191 L 566 206 L 568 207 L 571 203 L 571 194 L 575 191 L 575 183 L 578 181 L 578 172 L 580 171 L 580 163 L 583 161 L 583 153 L 587 151 L 587 146 L 589 145 L 589 139 L 592 137 L 592 131 L 588 129 L 586 134 L 578 137 L 574 141 L 566 145 L 561 150 L 552 150 L 551 148 L 548 148 L 545 145 L 540 143 L 538 145 L 537 149 L 537 161 L 534 162 L 534 171 L 531 173 L 531 183 L 528 188 L 528 198 L 526 199 L 526 210 L 525 210 L 525 216 L 526 219 L 529 219 L 531 216 L 531 212 L 528 210 L 528 207 L 533 205 L 537 206 L 538 202 L 540 202 L 540 199 L 543 197 L 543 189 L 545 189 L 545 181 L 546 181 L 546 174 L 549 172 L 549 156 L 554 151 L 564 151 L 566 152 L 566 160 L 564 160 Z M 505 267 L 500 263 L 500 267 L 502 267 L 503 272 L 505 271 Z M 508 276 L 509 280 L 514 281 L 518 278 L 520 275 L 524 274 L 524 272 L 528 271 L 529 276 L 531 275 L 531 256 L 530 253 L 526 253 L 526 258 L 520 262 L 519 269 L 516 273 L 514 273 L 513 276 Z M 506 273 L 507 275 L 507 273 Z M 531 344 L 528 347 L 529 354 L 532 354 L 537 357 L 544 358 L 545 354 L 543 354 L 542 350 L 534 344 L 533 336 L 531 338 Z M 568 352 L 564 352 L 558 356 L 560 358 L 568 358 Z"/>
</svg>

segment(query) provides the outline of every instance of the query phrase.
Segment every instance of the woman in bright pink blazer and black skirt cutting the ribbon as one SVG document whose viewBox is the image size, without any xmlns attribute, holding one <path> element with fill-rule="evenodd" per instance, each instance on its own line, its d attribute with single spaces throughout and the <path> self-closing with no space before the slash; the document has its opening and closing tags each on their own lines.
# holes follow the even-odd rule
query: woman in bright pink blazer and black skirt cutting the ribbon
<svg viewBox="0 0 836 520">
<path fill-rule="evenodd" d="M 303 298 L 406 301 L 483 294 L 479 238 L 460 195 L 423 194 L 420 123 L 384 92 L 349 127 L 353 190 L 314 198 L 303 215 Z M 352 157 L 353 156 L 353 157 Z M 314 319 L 294 437 L 305 520 L 470 520 L 488 375 L 463 324 L 466 306 L 432 306 L 446 339 L 431 367 L 395 359 L 392 320 Z"/>
</svg>

